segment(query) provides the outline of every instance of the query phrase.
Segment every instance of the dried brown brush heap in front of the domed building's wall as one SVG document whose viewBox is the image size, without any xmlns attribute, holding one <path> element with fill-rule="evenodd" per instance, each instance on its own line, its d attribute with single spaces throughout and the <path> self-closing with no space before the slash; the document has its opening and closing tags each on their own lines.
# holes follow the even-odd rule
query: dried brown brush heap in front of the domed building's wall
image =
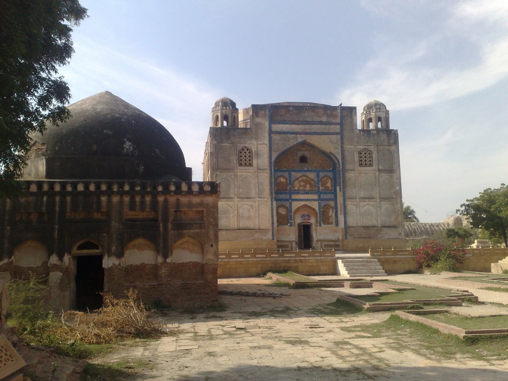
<svg viewBox="0 0 508 381">
<path fill-rule="evenodd" d="M 148 310 L 135 290 L 122 299 L 104 296 L 104 306 L 94 312 L 68 311 L 62 315 L 66 337 L 87 344 L 115 343 L 131 338 L 158 338 L 165 331 L 148 319 Z"/>
</svg>

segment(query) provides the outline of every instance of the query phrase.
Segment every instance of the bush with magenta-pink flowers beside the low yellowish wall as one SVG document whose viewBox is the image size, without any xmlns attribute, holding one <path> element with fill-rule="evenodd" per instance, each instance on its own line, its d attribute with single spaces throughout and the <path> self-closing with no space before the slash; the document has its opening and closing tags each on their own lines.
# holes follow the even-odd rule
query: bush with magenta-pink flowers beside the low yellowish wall
<svg viewBox="0 0 508 381">
<path fill-rule="evenodd" d="M 432 269 L 434 272 L 457 271 L 457 265 L 464 263 L 466 250 L 458 242 L 440 243 L 434 240 L 425 241 L 423 246 L 415 249 L 420 268 Z"/>
</svg>

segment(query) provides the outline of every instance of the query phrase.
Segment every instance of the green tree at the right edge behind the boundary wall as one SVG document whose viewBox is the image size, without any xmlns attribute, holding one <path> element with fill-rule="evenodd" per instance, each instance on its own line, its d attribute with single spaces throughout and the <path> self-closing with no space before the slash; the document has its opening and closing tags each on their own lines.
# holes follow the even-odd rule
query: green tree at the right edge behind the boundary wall
<svg viewBox="0 0 508 381">
<path fill-rule="evenodd" d="M 457 209 L 461 215 L 469 217 L 472 227 L 480 228 L 490 237 L 500 239 L 508 247 L 506 230 L 508 229 L 508 186 L 487 188 L 474 199 L 466 200 Z"/>
</svg>

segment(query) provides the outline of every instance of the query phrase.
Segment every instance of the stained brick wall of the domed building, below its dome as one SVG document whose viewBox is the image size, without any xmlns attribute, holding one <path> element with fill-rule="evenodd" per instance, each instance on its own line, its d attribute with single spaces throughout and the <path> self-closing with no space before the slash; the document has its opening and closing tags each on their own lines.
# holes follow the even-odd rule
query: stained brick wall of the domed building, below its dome
<svg viewBox="0 0 508 381">
<path fill-rule="evenodd" d="M 145 302 L 216 303 L 218 184 L 48 180 L 27 187 L 26 197 L 0 203 L 0 271 L 46 277 L 55 308 L 74 308 L 83 257 L 102 258 L 90 271 L 104 269 L 98 287 L 115 296 L 132 287 Z"/>
</svg>

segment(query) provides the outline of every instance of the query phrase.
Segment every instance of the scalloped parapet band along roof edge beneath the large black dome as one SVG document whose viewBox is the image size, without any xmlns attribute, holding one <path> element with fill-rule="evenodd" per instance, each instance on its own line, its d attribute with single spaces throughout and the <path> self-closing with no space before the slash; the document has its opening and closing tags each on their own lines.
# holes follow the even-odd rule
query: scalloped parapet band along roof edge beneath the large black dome
<svg viewBox="0 0 508 381">
<path fill-rule="evenodd" d="M 213 181 L 146 180 L 21 180 L 28 194 L 170 194 L 213 195 L 220 184 Z"/>
</svg>

